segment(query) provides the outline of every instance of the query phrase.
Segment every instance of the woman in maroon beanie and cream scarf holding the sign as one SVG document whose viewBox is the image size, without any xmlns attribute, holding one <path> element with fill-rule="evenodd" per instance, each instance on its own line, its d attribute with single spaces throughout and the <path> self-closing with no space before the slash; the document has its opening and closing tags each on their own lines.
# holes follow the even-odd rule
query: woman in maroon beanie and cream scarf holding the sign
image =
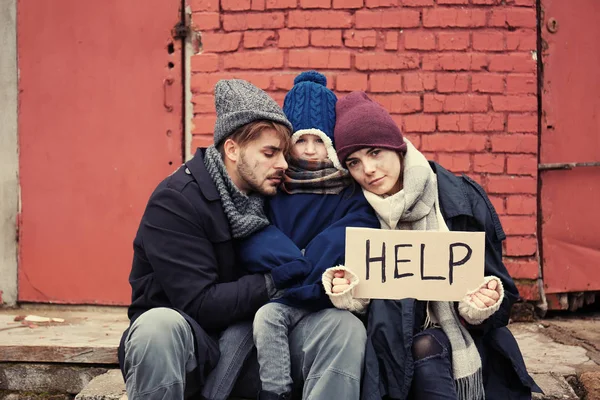
<svg viewBox="0 0 600 400">
<path fill-rule="evenodd" d="M 458 303 L 373 300 L 362 399 L 529 399 L 539 388 L 506 328 L 518 291 L 502 263 L 505 238 L 483 189 L 425 157 L 363 92 L 338 101 L 335 141 L 382 229 L 485 231 L 485 279 Z M 330 268 L 332 303 L 359 309 L 358 279 Z"/>
</svg>

